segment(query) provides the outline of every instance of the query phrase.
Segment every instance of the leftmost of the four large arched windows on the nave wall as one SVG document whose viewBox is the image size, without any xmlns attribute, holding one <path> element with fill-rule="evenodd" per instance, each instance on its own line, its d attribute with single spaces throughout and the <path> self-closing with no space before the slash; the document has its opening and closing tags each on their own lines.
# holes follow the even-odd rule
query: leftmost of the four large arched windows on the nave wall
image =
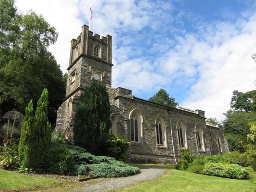
<svg viewBox="0 0 256 192">
<path fill-rule="evenodd" d="M 130 113 L 130 138 L 131 142 L 142 142 L 142 116 L 138 110 Z"/>
</svg>

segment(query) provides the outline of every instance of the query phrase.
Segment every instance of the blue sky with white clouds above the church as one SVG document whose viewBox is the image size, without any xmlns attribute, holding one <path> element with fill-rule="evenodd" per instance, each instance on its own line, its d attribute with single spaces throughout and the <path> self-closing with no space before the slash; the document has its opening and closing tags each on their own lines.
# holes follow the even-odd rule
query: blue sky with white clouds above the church
<svg viewBox="0 0 256 192">
<path fill-rule="evenodd" d="M 256 89 L 255 0 L 91 0 L 90 30 L 112 36 L 112 87 L 148 100 L 161 88 L 179 106 L 225 119 L 232 92 Z M 49 47 L 67 72 L 70 41 L 89 25 L 90 0 L 16 0 L 59 33 Z"/>
</svg>

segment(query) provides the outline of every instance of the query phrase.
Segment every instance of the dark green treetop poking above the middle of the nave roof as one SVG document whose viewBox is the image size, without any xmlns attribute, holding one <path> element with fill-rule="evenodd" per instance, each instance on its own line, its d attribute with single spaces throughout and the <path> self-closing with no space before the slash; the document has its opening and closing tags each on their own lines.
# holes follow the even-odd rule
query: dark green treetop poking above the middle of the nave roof
<svg viewBox="0 0 256 192">
<path fill-rule="evenodd" d="M 154 94 L 154 96 L 150 97 L 148 100 L 173 108 L 178 105 L 178 102 L 175 102 L 175 98 L 169 97 L 168 93 L 164 89 L 160 89 L 156 94 Z"/>
</svg>

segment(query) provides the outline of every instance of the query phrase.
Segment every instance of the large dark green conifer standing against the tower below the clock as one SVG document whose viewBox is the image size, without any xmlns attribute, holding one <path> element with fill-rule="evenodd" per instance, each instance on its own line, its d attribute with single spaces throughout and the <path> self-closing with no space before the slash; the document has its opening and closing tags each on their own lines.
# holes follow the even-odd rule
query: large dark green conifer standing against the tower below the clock
<svg viewBox="0 0 256 192">
<path fill-rule="evenodd" d="M 110 129 L 110 103 L 104 85 L 92 82 L 81 94 L 74 118 L 74 145 L 94 155 L 102 154 L 102 147 Z"/>
</svg>

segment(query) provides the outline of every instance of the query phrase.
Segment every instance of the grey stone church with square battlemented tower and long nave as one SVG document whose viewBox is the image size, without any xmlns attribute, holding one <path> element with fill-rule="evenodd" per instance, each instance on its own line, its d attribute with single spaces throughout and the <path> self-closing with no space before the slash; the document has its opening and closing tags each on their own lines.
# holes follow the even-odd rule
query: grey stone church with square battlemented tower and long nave
<svg viewBox="0 0 256 192">
<path fill-rule="evenodd" d="M 112 36 L 100 37 L 82 26 L 71 41 L 66 98 L 58 109 L 56 132 L 68 137 L 80 94 L 95 80 L 108 89 L 110 132 L 130 142 L 127 162 L 175 163 L 185 148 L 203 155 L 229 151 L 222 127 L 207 123 L 204 111 L 170 108 L 133 97 L 126 88 L 112 88 L 112 66 Z"/>
</svg>

